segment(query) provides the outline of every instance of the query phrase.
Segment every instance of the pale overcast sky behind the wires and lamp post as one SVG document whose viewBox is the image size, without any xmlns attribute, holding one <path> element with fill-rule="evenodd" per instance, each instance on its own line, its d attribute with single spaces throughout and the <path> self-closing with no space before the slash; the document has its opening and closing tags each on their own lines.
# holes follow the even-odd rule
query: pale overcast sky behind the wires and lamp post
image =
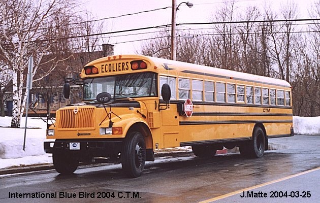
<svg viewBox="0 0 320 203">
<path fill-rule="evenodd" d="M 298 18 L 309 18 L 308 9 L 318 0 L 294 0 L 298 7 Z M 146 10 L 153 10 L 172 6 L 172 0 L 82 0 L 82 9 L 86 9 L 98 19 L 114 17 L 123 14 L 137 13 Z M 183 1 L 177 0 L 177 4 Z M 215 10 L 221 6 L 222 0 L 190 0 L 193 3 L 192 8 L 188 8 L 182 4 L 177 11 L 177 23 L 190 22 L 209 22 Z M 236 3 L 236 11 L 244 12 L 247 6 L 257 6 L 263 11 L 263 6 L 267 3 L 274 12 L 278 12 L 280 5 L 285 4 L 287 0 L 239 0 Z M 104 20 L 104 32 L 135 29 L 149 26 L 158 26 L 171 24 L 171 8 L 141 13 L 131 16 L 119 17 Z M 188 25 L 178 26 L 177 29 L 183 28 L 205 28 L 204 25 Z M 135 32 L 116 33 L 112 36 L 127 35 L 133 33 L 157 31 L 159 29 L 146 29 Z M 185 35 L 185 31 L 180 31 L 180 35 Z M 151 34 L 132 35 L 123 37 L 111 37 L 109 44 L 114 44 L 114 53 L 118 54 L 135 54 L 136 50 L 140 50 L 142 41 L 134 43 L 121 43 L 126 41 L 147 39 L 152 37 Z M 116 44 L 119 43 L 119 44 Z"/>
</svg>

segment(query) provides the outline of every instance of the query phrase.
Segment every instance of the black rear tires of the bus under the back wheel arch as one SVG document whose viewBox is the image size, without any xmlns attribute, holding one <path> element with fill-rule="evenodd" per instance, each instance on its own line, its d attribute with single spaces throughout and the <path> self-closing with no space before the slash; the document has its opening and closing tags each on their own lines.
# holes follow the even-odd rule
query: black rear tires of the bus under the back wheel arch
<svg viewBox="0 0 320 203">
<path fill-rule="evenodd" d="M 261 127 L 255 127 L 252 134 L 252 141 L 239 145 L 241 155 L 250 158 L 262 157 L 265 152 L 265 133 Z"/>
</svg>

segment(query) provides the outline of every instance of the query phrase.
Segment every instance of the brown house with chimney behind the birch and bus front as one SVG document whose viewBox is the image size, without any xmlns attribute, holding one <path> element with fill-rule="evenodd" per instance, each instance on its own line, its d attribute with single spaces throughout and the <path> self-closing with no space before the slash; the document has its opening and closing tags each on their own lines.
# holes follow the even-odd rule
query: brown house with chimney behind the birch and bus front
<svg viewBox="0 0 320 203">
<path fill-rule="evenodd" d="M 54 55 L 44 55 L 41 60 L 43 65 L 39 66 L 37 75 L 34 79 L 43 78 L 39 81 L 34 81 L 29 100 L 29 103 L 31 104 L 37 98 L 38 106 L 35 108 L 35 111 L 29 109 L 28 114 L 46 115 L 50 110 L 50 113 L 54 115 L 55 111 L 60 107 L 80 102 L 82 100 L 82 87 L 79 87 L 79 85 L 71 84 L 70 98 L 65 99 L 63 97 L 62 88 L 65 83 L 65 78 L 80 78 L 79 74 L 85 64 L 101 57 L 113 55 L 113 46 L 114 45 L 103 44 L 102 51 L 69 54 L 67 57 L 64 57 L 64 60 L 56 63 L 55 69 L 52 70 L 48 76 L 46 76 L 48 71 L 50 72 L 52 65 L 55 64 L 54 61 L 57 59 Z M 7 100 L 7 104 L 8 102 L 10 103 L 10 100 L 12 100 L 12 97 Z M 11 107 L 9 105 L 7 109 L 9 113 L 10 111 L 12 112 L 12 105 Z M 7 113 L 7 115 L 9 114 Z"/>
</svg>

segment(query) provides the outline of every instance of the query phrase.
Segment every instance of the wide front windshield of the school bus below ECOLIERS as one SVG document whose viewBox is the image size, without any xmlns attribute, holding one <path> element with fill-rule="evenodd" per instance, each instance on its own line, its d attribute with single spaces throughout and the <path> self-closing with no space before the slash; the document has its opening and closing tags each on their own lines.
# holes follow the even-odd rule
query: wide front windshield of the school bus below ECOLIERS
<svg viewBox="0 0 320 203">
<path fill-rule="evenodd" d="M 110 93 L 113 99 L 157 96 L 156 84 L 155 73 L 89 78 L 83 82 L 83 100 L 94 100 L 101 92 Z"/>
</svg>

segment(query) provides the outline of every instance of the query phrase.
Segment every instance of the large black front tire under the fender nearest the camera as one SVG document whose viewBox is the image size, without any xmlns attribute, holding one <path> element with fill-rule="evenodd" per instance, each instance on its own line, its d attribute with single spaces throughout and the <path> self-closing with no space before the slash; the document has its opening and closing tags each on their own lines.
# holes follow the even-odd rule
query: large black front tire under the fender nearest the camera
<svg viewBox="0 0 320 203">
<path fill-rule="evenodd" d="M 121 152 L 121 165 L 124 173 L 136 178 L 141 176 L 146 162 L 146 144 L 141 132 L 130 132 Z"/>
</svg>

